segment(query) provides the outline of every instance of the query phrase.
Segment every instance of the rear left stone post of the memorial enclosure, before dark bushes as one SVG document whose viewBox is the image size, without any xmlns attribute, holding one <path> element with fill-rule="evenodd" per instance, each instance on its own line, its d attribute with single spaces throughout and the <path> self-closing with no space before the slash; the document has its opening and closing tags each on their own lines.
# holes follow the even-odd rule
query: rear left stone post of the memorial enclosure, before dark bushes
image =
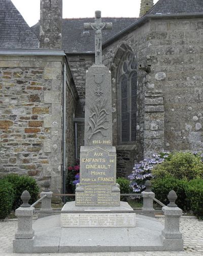
<svg viewBox="0 0 203 256">
<path fill-rule="evenodd" d="M 50 191 L 49 186 L 50 186 L 50 182 L 45 181 L 44 182 L 45 189 L 40 193 L 40 198 L 43 197 L 44 195 L 46 195 L 46 197 L 42 199 L 42 205 L 41 205 L 40 212 L 38 214 L 38 218 L 46 217 L 53 214 L 53 209 L 51 207 L 51 198 L 52 198 L 53 192 Z"/>
</svg>

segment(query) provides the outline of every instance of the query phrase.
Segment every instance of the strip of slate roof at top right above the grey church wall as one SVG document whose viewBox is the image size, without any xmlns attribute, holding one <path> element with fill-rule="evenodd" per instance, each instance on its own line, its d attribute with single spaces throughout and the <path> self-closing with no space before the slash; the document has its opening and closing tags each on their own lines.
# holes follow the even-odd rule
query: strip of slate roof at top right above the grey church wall
<svg viewBox="0 0 203 256">
<path fill-rule="evenodd" d="M 202 0 L 159 0 L 147 13 L 156 14 L 190 14 L 203 13 Z"/>
</svg>

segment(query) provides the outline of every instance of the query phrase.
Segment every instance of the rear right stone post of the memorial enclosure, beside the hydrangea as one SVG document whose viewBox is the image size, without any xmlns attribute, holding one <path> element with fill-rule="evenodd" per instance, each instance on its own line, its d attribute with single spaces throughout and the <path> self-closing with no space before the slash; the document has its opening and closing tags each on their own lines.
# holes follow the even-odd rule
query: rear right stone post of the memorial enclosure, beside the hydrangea
<svg viewBox="0 0 203 256">
<path fill-rule="evenodd" d="M 146 189 L 142 192 L 143 196 L 143 208 L 142 208 L 142 214 L 154 217 L 155 210 L 153 208 L 153 197 L 154 193 L 151 191 L 151 182 L 146 181 L 145 183 Z"/>
</svg>

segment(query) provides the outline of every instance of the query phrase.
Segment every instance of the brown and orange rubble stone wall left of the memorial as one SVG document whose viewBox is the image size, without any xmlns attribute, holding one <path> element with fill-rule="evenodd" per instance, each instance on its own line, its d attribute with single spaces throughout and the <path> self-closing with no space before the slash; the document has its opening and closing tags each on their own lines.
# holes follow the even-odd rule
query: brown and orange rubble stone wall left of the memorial
<svg viewBox="0 0 203 256">
<path fill-rule="evenodd" d="M 63 62 L 63 56 L 0 56 L 0 175 L 26 174 L 39 184 L 51 179 L 55 192 L 61 191 Z M 73 136 L 76 94 L 70 89 L 67 123 Z M 68 142 L 72 163 L 74 144 Z"/>
</svg>

